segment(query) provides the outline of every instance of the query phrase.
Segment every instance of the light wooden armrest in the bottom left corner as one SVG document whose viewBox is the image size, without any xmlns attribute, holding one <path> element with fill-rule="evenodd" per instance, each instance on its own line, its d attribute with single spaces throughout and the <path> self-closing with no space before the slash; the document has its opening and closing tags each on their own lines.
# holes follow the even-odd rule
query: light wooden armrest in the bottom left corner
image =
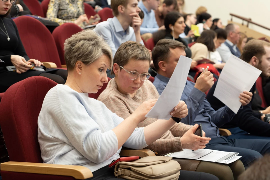
<svg viewBox="0 0 270 180">
<path fill-rule="evenodd" d="M 75 179 L 87 179 L 93 177 L 90 169 L 83 166 L 32 162 L 4 162 L 1 163 L 1 171 L 72 176 Z"/>
</svg>

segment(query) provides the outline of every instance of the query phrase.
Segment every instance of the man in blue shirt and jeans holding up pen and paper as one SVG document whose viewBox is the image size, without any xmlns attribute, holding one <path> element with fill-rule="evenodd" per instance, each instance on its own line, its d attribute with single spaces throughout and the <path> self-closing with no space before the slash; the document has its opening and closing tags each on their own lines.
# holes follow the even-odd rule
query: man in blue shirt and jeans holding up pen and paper
<svg viewBox="0 0 270 180">
<path fill-rule="evenodd" d="M 185 55 L 183 44 L 170 39 L 160 40 L 153 49 L 152 57 L 157 76 L 154 80 L 158 93 L 165 89 L 181 55 Z M 215 111 L 205 99 L 205 92 L 214 84 L 213 75 L 208 71 L 198 77 L 196 84 L 187 81 L 181 100 L 188 106 L 188 116 L 181 120 L 182 123 L 194 125 L 203 124 L 206 137 L 211 141 L 206 145 L 207 149 L 239 152 L 240 160 L 247 168 L 254 160 L 261 158 L 263 154 L 270 152 L 270 140 L 227 140 L 219 135 L 218 127 L 230 122 L 235 113 L 227 106 Z M 243 106 L 251 100 L 252 93 L 243 92 L 239 96 Z"/>
</svg>

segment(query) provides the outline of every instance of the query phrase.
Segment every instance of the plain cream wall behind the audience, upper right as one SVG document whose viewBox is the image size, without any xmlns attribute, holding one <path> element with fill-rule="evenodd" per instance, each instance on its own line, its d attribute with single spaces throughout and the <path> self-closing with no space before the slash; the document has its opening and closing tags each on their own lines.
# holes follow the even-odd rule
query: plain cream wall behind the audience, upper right
<svg viewBox="0 0 270 180">
<path fill-rule="evenodd" d="M 212 18 L 220 18 L 223 25 L 227 25 L 233 13 L 270 28 L 270 0 L 185 0 L 184 12 L 193 13 L 199 6 L 207 7 Z M 233 21 L 242 23 L 235 17 Z M 253 24 L 249 24 L 249 28 L 270 36 L 270 30 Z"/>
</svg>

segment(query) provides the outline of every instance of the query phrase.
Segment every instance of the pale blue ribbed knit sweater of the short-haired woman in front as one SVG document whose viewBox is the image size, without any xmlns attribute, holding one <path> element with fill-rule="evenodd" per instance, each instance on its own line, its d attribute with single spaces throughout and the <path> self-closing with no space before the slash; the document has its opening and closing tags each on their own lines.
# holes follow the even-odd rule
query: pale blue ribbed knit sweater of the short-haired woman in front
<svg viewBox="0 0 270 180">
<path fill-rule="evenodd" d="M 80 165 L 92 172 L 119 158 L 112 131 L 123 118 L 102 102 L 58 84 L 46 94 L 38 117 L 38 141 L 44 163 Z M 143 128 L 136 128 L 123 145 L 147 147 Z"/>
</svg>

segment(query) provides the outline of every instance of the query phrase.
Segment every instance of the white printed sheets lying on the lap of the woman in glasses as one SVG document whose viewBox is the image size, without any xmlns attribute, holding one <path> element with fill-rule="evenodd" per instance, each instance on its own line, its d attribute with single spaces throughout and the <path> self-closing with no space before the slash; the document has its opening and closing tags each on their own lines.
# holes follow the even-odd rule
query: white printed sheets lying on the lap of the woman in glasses
<svg viewBox="0 0 270 180">
<path fill-rule="evenodd" d="M 201 161 L 219 162 L 224 164 L 229 164 L 236 161 L 241 156 L 237 156 L 238 152 L 225 152 L 217 150 L 199 149 L 197 151 L 191 151 L 184 149 L 180 152 L 175 152 L 168 154 L 166 156 L 174 158 L 184 158 L 184 159 L 197 159 Z M 237 156 L 237 157 L 236 157 Z"/>
</svg>

